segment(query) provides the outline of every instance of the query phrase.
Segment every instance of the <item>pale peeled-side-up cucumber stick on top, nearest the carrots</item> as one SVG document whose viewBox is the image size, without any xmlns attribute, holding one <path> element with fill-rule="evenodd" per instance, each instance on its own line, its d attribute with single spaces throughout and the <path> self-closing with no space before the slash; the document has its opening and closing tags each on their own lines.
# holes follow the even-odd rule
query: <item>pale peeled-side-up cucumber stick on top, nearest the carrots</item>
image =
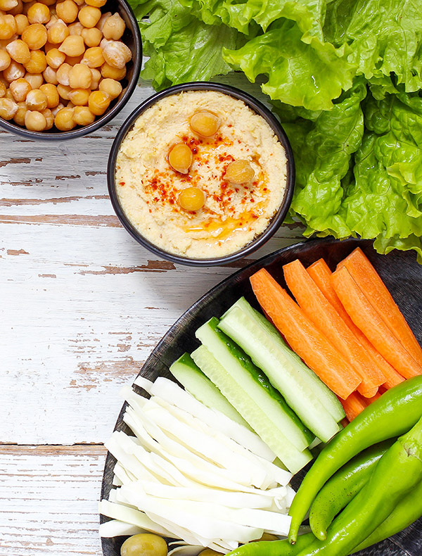
<svg viewBox="0 0 422 556">
<path fill-rule="evenodd" d="M 219 322 L 219 328 L 250 355 L 315 436 L 328 442 L 338 432 L 337 422 L 312 391 L 297 362 L 257 320 L 236 307 Z"/>
</svg>

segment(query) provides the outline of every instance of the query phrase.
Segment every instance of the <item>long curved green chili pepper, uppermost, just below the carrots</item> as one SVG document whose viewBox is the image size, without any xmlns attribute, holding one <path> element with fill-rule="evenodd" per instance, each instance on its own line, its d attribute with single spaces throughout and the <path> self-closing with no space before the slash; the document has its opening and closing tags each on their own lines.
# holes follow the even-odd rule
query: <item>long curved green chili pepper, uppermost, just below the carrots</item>
<svg viewBox="0 0 422 556">
<path fill-rule="evenodd" d="M 295 543 L 312 500 L 333 473 L 365 448 L 409 431 L 421 415 L 422 376 L 419 376 L 383 393 L 338 432 L 316 458 L 293 499 L 289 512 L 290 543 Z"/>
</svg>

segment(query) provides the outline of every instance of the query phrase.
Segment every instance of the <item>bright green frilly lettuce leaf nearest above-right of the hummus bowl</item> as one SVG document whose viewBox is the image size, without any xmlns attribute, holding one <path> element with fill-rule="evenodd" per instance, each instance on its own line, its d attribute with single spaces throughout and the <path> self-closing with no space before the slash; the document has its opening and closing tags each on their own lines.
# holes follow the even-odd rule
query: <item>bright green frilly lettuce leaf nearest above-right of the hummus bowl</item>
<svg viewBox="0 0 422 556">
<path fill-rule="evenodd" d="M 352 85 L 355 68 L 332 44 L 306 44 L 290 20 L 277 20 L 269 30 L 239 50 L 223 49 L 224 60 L 250 81 L 268 76 L 262 91 L 273 100 L 308 110 L 329 110 L 333 99 Z"/>
</svg>

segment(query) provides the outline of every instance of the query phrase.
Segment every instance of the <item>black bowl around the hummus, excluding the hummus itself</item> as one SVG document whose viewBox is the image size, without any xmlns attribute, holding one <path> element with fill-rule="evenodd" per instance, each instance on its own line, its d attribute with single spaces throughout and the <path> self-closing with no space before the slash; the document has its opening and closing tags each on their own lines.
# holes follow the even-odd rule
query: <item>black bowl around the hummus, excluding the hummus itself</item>
<svg viewBox="0 0 422 556">
<path fill-rule="evenodd" d="M 287 157 L 287 179 L 286 179 L 286 191 L 283 196 L 283 201 L 281 202 L 281 206 L 279 210 L 277 210 L 276 214 L 271 218 L 269 225 L 267 228 L 262 232 L 260 235 L 255 237 L 249 244 L 245 245 L 239 251 L 235 253 L 231 253 L 230 255 L 225 255 L 223 257 L 218 258 L 188 258 L 183 257 L 180 255 L 174 255 L 174 253 L 170 253 L 165 251 L 164 249 L 159 248 L 155 244 L 148 241 L 141 232 L 139 232 L 132 222 L 129 221 L 127 216 L 125 215 L 122 207 L 120 206 L 119 199 L 117 197 L 117 192 L 115 189 L 115 165 L 117 159 L 117 153 L 120 149 L 120 144 L 122 143 L 126 134 L 132 129 L 134 122 L 139 115 L 143 113 L 147 108 L 152 106 L 160 99 L 163 99 L 165 96 L 170 96 L 172 94 L 180 93 L 181 91 L 217 91 L 220 93 L 228 94 L 233 96 L 235 99 L 240 99 L 243 101 L 249 108 L 251 108 L 255 113 L 259 114 L 269 123 L 271 128 L 274 130 L 276 137 L 279 138 L 281 145 L 283 145 L 284 150 L 286 151 Z M 293 161 L 293 153 L 290 148 L 290 143 L 286 137 L 286 133 L 281 127 L 279 120 L 276 119 L 271 110 L 269 110 L 266 106 L 264 106 L 260 101 L 254 99 L 250 94 L 247 94 L 240 89 L 235 89 L 234 87 L 229 87 L 228 85 L 223 85 L 219 83 L 210 83 L 210 82 L 196 82 L 196 83 L 185 83 L 181 85 L 175 85 L 174 87 L 170 87 L 169 89 L 165 89 L 160 93 L 157 93 L 143 102 L 136 110 L 129 115 L 129 118 L 124 122 L 121 129 L 117 133 L 115 140 L 113 142 L 113 146 L 111 147 L 110 156 L 108 158 L 108 170 L 107 170 L 107 179 L 108 179 L 108 191 L 110 193 L 110 199 L 113 204 L 113 208 L 117 216 L 122 222 L 122 225 L 127 229 L 127 232 L 131 234 L 131 236 L 136 239 L 142 246 L 146 247 L 150 251 L 152 251 L 155 255 L 160 258 L 164 258 L 167 260 L 172 261 L 172 263 L 179 263 L 181 265 L 190 265 L 190 266 L 198 266 L 198 267 L 207 267 L 207 266 L 217 266 L 217 265 L 226 265 L 232 263 L 234 260 L 238 260 L 240 258 L 245 257 L 252 253 L 252 251 L 256 251 L 257 248 L 260 248 L 269 238 L 276 232 L 276 230 L 280 227 L 281 223 L 283 222 L 286 214 L 288 212 L 288 208 L 290 206 L 290 202 L 293 196 L 293 189 L 295 187 L 295 165 Z"/>
</svg>

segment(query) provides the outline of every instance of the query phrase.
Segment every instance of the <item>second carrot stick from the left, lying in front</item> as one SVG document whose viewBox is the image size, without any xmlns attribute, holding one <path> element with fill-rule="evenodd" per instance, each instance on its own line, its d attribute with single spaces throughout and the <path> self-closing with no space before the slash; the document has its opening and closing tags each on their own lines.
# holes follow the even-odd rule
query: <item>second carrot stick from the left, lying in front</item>
<svg viewBox="0 0 422 556">
<path fill-rule="evenodd" d="M 362 382 L 357 388 L 359 393 L 371 398 L 378 386 L 385 382 L 383 372 L 357 341 L 333 305 L 327 301 L 300 260 L 284 265 L 283 271 L 286 284 L 302 311 L 361 377 Z"/>
</svg>

